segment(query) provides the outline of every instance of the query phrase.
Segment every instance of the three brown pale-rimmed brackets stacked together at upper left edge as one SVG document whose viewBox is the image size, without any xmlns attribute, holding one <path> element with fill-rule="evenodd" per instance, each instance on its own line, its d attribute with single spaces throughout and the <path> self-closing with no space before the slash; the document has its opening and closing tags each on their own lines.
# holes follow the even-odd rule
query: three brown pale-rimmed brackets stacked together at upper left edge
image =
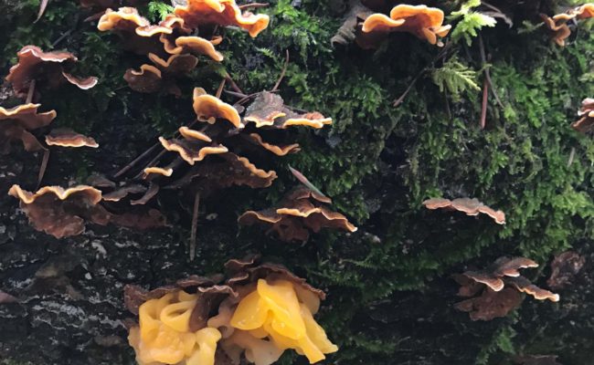
<svg viewBox="0 0 594 365">
<path fill-rule="evenodd" d="M 36 46 L 25 46 L 16 55 L 18 63 L 10 68 L 6 80 L 12 84 L 15 95 L 26 101 L 11 109 L 0 107 L 0 151 L 10 151 L 12 141 L 21 141 L 26 151 L 47 151 L 32 131 L 47 127 L 56 118 L 56 111 L 38 111 L 41 104 L 32 103 L 38 91 L 56 89 L 64 83 L 86 90 L 94 87 L 98 80 L 78 78 L 67 72 L 77 61 L 69 52 L 44 52 Z M 99 146 L 92 138 L 73 130 L 52 130 L 45 141 L 48 146 Z"/>
</svg>

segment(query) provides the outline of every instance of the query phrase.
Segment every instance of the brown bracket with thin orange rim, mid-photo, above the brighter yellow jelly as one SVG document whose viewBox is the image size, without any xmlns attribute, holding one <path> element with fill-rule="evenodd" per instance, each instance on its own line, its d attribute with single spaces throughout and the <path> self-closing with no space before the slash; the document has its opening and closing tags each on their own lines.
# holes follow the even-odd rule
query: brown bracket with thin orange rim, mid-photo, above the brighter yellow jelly
<svg viewBox="0 0 594 365">
<path fill-rule="evenodd" d="M 305 187 L 298 187 L 285 195 L 276 208 L 263 211 L 248 211 L 241 214 L 239 224 L 267 224 L 268 233 L 274 232 L 284 242 L 306 241 L 310 231 L 318 233 L 322 228 L 337 228 L 355 232 L 355 225 L 345 215 L 333 212 L 324 206 L 332 201 Z"/>
</svg>

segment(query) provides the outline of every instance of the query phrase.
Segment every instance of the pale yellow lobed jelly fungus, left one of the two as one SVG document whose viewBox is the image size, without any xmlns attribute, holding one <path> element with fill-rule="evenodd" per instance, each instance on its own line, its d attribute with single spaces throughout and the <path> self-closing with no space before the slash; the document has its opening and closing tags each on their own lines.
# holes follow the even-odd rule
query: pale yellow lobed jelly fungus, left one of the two
<svg viewBox="0 0 594 365">
<path fill-rule="evenodd" d="M 139 327 L 128 337 L 140 365 L 178 364 L 214 365 L 217 328 L 190 331 L 190 317 L 197 295 L 184 291 L 151 299 L 139 308 Z"/>
</svg>

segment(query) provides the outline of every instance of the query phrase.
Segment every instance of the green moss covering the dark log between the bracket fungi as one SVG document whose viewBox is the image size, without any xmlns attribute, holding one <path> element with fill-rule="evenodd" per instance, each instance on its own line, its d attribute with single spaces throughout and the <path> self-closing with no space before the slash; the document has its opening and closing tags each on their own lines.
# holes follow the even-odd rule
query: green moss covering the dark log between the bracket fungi
<svg viewBox="0 0 594 365">
<path fill-rule="evenodd" d="M 552 14 L 557 4 L 529 1 L 525 2 L 531 5 L 528 10 L 509 5 L 514 27 L 499 24 L 481 32 L 488 65 L 482 62 L 476 39 L 471 46 L 446 46 L 446 57 L 435 62 L 440 48 L 407 34 L 390 36 L 375 52 L 331 47 L 330 38 L 344 12 L 342 1 L 270 1 L 270 7 L 259 9 L 270 14 L 269 29 L 256 39 L 227 30 L 220 47 L 226 60 L 217 64 L 201 59 L 182 85 L 184 96 L 175 99 L 128 89 L 122 75 L 126 68 L 137 68 L 143 57 L 122 51 L 116 36 L 101 34 L 93 22 L 83 22 L 90 13 L 80 10 L 76 2 L 50 2 L 46 14 L 33 24 L 37 0 L 2 1 L 9 10 L 0 15 L 0 31 L 9 36 L 0 38 L 4 47 L 0 58 L 4 72 L 0 73 L 6 73 L 20 47 L 35 44 L 51 49 L 59 39 L 56 49 L 68 49 L 80 57 L 81 74 L 101 79 L 88 92 L 72 88 L 44 95 L 44 107 L 58 110 L 56 125 L 89 132 L 101 143 L 99 151 L 53 156 L 45 183 L 82 182 L 90 172 L 116 172 L 151 146 L 156 136 L 192 120 L 191 89 L 199 86 L 214 92 L 225 73 L 248 93 L 270 89 L 281 73 L 285 50 L 291 60 L 281 85 L 282 97 L 289 105 L 320 110 L 334 119 L 330 130 L 299 132 L 302 152 L 272 162 L 280 178 L 270 189 L 235 189 L 205 203 L 206 212 L 217 213 L 218 219 L 200 222 L 199 257 L 191 264 L 184 258 L 190 208 L 176 199 L 160 202 L 174 223 L 167 239 L 155 238 L 146 247 L 133 245 L 126 248 L 133 254 L 126 255 L 154 258 L 163 250 L 173 253 L 168 257 L 175 266 L 159 271 L 152 262 L 151 274 L 136 275 L 134 282 L 154 287 L 184 272 L 217 272 L 230 257 L 260 252 L 327 289 L 321 322 L 341 348 L 328 363 L 500 364 L 521 353 L 557 354 L 566 365 L 591 359 L 588 355 L 594 354 L 594 348 L 585 339 L 594 337 L 594 300 L 591 294 L 579 292 L 579 287 L 561 293 L 559 304 L 526 299 L 507 318 L 471 322 L 451 307 L 458 298 L 449 278 L 466 266 L 484 266 L 500 255 L 525 255 L 542 264 L 541 270 L 531 273 L 541 282 L 552 255 L 574 247 L 592 257 L 594 144 L 591 137 L 569 128 L 580 100 L 594 96 L 591 24 L 580 26 L 570 44 L 560 48 L 542 27 L 524 23 L 536 23 L 538 11 Z M 441 6 L 449 13 L 458 5 Z M 143 11 L 157 18 L 161 8 L 152 3 Z M 502 104 L 490 94 L 484 130 L 479 124 L 480 91 L 451 95 L 431 80 L 433 68 L 447 67 L 452 57 L 477 71 L 479 85 L 482 69 L 490 69 Z M 418 75 L 404 101 L 393 107 L 392 101 Z M 10 157 L 21 165 L 32 159 Z M 295 184 L 288 165 L 332 196 L 334 205 L 359 225 L 359 231 L 349 236 L 315 235 L 306 245 L 285 245 L 257 229 L 238 230 L 237 214 L 248 207 L 270 205 Z M 34 184 L 36 172 L 30 170 L 34 169 L 17 172 L 18 182 Z M 6 186 L 3 183 L 2 189 Z M 5 191 L 0 194 L 4 196 Z M 507 224 L 422 208 L 420 203 L 433 196 L 477 197 L 504 210 Z M 15 202 L 0 200 L 5 200 L 6 209 L 16 208 Z M 3 224 L 15 224 L 14 218 L 6 218 Z M 16 229 L 12 243 L 0 245 L 3 255 L 28 239 L 19 237 L 33 235 Z M 217 232 L 233 235 L 221 238 Z M 113 230 L 107 235 L 105 245 L 129 234 Z M 54 247 L 49 257 L 70 252 L 55 240 L 38 236 Z M 90 255 L 84 245 L 71 250 Z M 39 261 L 45 262 L 48 256 Z M 27 274 L 6 260 L 0 277 L 8 283 L 5 289 L 17 288 L 15 283 L 24 277 L 15 276 Z M 106 267 L 115 265 L 109 257 L 102 260 Z M 579 284 L 583 289 L 592 282 L 592 266 L 587 268 Z M 97 286 L 101 293 L 101 284 Z M 111 314 L 114 319 L 126 317 L 122 308 Z M 563 330 L 553 330 L 557 327 Z M 105 332 L 101 330 L 101 336 L 107 336 Z M 122 337 L 122 328 L 115 332 L 114 336 Z M 88 363 L 105 360 L 93 358 L 97 351 L 85 352 L 89 333 L 93 332 L 81 328 L 70 343 L 60 343 L 63 348 L 72 347 L 61 356 L 73 363 L 81 353 L 89 355 Z M 130 360 L 130 349 L 116 349 L 111 351 L 121 354 L 109 360 Z M 20 360 L 18 346 L 0 350 L 6 358 Z M 282 363 L 296 361 L 288 355 Z"/>
</svg>

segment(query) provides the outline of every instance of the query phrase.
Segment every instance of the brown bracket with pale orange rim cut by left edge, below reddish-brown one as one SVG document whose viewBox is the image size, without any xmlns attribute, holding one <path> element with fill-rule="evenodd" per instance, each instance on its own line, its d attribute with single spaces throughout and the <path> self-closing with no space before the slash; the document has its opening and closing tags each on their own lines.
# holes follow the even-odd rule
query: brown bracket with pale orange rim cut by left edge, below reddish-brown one
<svg viewBox="0 0 594 365">
<path fill-rule="evenodd" d="M 40 104 L 23 104 L 11 109 L 0 107 L 0 151 L 10 151 L 11 141 L 22 141 L 26 151 L 45 150 L 30 132 L 46 127 L 56 118 L 56 111 L 39 113 Z"/>
</svg>

